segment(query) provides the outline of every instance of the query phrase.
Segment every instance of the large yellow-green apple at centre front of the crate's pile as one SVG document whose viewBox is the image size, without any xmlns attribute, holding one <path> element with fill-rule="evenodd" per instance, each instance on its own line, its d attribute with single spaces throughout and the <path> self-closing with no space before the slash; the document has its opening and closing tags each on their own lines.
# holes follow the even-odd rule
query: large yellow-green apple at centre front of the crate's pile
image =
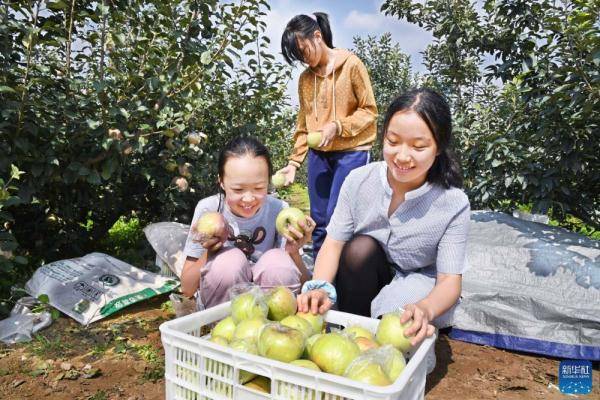
<svg viewBox="0 0 600 400">
<path fill-rule="evenodd" d="M 310 359 L 325 372 L 342 375 L 360 354 L 352 339 L 341 333 L 326 333 L 310 349 Z"/>
</svg>

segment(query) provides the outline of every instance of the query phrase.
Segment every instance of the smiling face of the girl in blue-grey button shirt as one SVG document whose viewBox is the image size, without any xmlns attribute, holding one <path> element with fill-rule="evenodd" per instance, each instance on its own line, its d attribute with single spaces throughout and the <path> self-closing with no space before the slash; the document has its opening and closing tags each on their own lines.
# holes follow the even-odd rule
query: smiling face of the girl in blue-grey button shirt
<svg viewBox="0 0 600 400">
<path fill-rule="evenodd" d="M 438 147 L 429 127 L 414 111 L 401 111 L 390 119 L 383 138 L 383 159 L 392 187 L 413 190 L 427 179 Z"/>
</svg>

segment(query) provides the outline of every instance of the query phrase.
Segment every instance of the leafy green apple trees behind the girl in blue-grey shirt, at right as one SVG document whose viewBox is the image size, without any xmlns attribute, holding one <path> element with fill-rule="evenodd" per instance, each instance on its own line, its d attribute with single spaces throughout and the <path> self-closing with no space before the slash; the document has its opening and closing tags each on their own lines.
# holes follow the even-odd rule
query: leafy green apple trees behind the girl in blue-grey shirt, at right
<svg viewBox="0 0 600 400">
<path fill-rule="evenodd" d="M 432 32 L 474 207 L 532 204 L 600 224 L 600 9 L 594 0 L 386 0 Z M 483 80 L 482 80 L 483 79 Z"/>
</svg>

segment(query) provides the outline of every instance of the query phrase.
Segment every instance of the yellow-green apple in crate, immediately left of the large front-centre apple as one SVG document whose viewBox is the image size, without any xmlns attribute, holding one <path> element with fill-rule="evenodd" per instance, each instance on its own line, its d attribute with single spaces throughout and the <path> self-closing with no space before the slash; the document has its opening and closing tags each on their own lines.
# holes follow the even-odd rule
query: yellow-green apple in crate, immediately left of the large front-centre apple
<svg viewBox="0 0 600 400">
<path fill-rule="evenodd" d="M 273 360 L 291 362 L 304 351 L 305 336 L 297 329 L 279 323 L 265 325 L 258 337 L 258 354 Z"/>
</svg>

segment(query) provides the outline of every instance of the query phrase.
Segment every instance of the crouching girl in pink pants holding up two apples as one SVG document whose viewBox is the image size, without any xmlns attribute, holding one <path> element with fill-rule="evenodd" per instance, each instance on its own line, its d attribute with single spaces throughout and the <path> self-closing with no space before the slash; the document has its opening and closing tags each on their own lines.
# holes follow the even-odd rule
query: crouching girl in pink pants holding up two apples
<svg viewBox="0 0 600 400">
<path fill-rule="evenodd" d="M 205 307 L 223 303 L 238 283 L 261 288 L 287 286 L 298 292 L 308 271 L 299 249 L 309 240 L 314 221 L 293 227 L 281 237 L 275 228 L 279 211 L 287 204 L 267 194 L 272 173 L 267 148 L 252 137 L 229 142 L 219 156 L 219 194 L 198 202 L 184 248 L 181 274 L 183 294 L 199 291 Z M 198 238 L 195 227 L 202 215 L 218 212 L 215 234 Z"/>
</svg>

